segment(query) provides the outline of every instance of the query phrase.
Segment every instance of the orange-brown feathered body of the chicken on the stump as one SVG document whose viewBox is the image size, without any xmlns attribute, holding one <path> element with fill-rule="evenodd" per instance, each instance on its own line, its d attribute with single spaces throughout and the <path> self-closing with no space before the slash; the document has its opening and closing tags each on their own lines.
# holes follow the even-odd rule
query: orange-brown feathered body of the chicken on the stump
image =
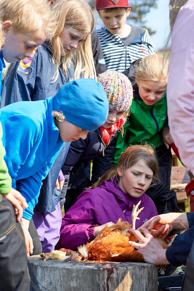
<svg viewBox="0 0 194 291">
<path fill-rule="evenodd" d="M 143 255 L 128 243 L 129 241 L 138 242 L 134 235 L 128 233 L 129 228 L 131 224 L 121 219 L 113 226 L 106 226 L 93 241 L 79 246 L 79 253 L 74 253 L 72 260 L 145 262 Z M 159 242 L 164 249 L 168 247 L 161 239 Z M 162 266 L 161 272 L 164 267 Z"/>
</svg>

